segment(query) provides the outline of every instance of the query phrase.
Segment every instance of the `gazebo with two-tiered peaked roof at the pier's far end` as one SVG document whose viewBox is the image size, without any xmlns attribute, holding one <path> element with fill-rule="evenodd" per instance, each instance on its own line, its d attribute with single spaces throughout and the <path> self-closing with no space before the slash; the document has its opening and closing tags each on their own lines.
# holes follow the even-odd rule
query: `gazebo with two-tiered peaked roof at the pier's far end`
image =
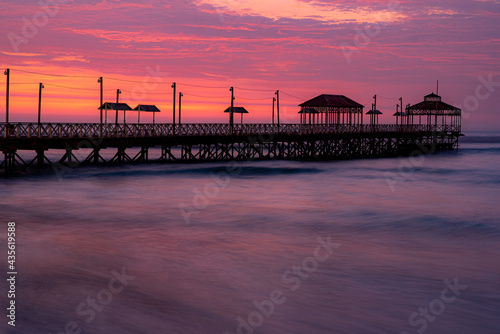
<svg viewBox="0 0 500 334">
<path fill-rule="evenodd" d="M 415 118 L 418 117 L 419 125 L 442 126 L 443 130 L 449 126 L 451 131 L 461 131 L 462 110 L 444 103 L 441 96 L 434 93 L 425 96 L 424 101 L 407 107 L 406 114 L 411 124 L 416 124 Z"/>
</svg>

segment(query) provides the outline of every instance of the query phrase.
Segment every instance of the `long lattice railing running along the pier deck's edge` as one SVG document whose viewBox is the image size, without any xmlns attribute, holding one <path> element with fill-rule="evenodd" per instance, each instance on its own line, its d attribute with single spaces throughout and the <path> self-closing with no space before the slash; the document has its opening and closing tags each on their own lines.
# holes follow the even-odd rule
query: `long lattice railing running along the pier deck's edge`
<svg viewBox="0 0 500 334">
<path fill-rule="evenodd" d="M 138 138 L 168 136 L 226 136 L 275 134 L 460 132 L 454 125 L 301 125 L 301 124 L 96 124 L 96 123 L 0 123 L 0 138 Z"/>
</svg>

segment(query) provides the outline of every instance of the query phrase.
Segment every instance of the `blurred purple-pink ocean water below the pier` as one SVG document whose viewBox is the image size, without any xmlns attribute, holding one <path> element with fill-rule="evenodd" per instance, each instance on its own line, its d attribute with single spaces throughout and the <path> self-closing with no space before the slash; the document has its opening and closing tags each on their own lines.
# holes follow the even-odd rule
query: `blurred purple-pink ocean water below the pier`
<svg viewBox="0 0 500 334">
<path fill-rule="evenodd" d="M 467 137 L 466 137 L 467 138 Z M 1 333 L 499 333 L 500 141 L 0 179 Z"/>
</svg>

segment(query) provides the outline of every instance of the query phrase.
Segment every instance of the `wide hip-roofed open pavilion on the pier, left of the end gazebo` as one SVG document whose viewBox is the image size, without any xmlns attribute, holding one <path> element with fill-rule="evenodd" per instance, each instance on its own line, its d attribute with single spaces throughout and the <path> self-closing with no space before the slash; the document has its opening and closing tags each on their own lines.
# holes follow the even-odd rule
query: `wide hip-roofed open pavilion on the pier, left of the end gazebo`
<svg viewBox="0 0 500 334">
<path fill-rule="evenodd" d="M 363 105 L 344 95 L 322 94 L 299 104 L 300 124 L 363 124 Z"/>
</svg>

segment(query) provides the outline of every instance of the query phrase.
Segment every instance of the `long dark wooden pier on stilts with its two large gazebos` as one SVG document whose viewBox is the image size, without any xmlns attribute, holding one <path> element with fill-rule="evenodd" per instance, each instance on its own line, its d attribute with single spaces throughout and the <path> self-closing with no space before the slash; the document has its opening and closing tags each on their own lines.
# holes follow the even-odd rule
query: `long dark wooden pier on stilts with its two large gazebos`
<svg viewBox="0 0 500 334">
<path fill-rule="evenodd" d="M 0 166 L 11 173 L 50 164 L 334 160 L 407 156 L 458 147 L 460 109 L 443 104 L 435 94 L 426 97 L 428 103 L 407 106 L 408 116 L 400 124 L 362 124 L 362 106 L 352 102 L 353 107 L 320 105 L 316 109 L 305 103 L 300 124 L 0 123 L 4 156 Z M 425 124 L 422 115 L 427 117 Z M 420 118 L 419 124 L 413 123 L 415 116 Z M 139 149 L 138 153 L 129 155 L 131 148 Z M 159 158 L 149 158 L 152 148 L 161 148 Z M 74 152 L 82 149 L 88 155 L 77 159 Z M 101 152 L 110 149 L 114 154 L 106 160 Z M 46 154 L 49 150 L 63 153 L 51 161 Z M 22 158 L 20 151 L 31 152 L 31 158 Z"/>
</svg>

